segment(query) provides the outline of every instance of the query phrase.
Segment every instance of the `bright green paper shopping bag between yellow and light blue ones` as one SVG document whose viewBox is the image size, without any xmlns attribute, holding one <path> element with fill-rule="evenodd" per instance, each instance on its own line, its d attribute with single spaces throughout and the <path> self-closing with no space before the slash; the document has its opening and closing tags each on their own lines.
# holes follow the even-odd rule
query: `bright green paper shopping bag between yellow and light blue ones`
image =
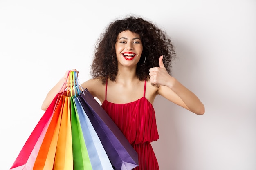
<svg viewBox="0 0 256 170">
<path fill-rule="evenodd" d="M 75 96 L 70 100 L 74 170 L 92 170 L 74 98 Z"/>
</svg>

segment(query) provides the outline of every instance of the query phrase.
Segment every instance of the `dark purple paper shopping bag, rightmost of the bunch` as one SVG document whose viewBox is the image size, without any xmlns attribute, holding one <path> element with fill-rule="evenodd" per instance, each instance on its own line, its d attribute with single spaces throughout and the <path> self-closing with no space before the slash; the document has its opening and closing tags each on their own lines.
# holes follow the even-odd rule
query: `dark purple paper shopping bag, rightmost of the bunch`
<svg viewBox="0 0 256 170">
<path fill-rule="evenodd" d="M 137 167 L 137 152 L 90 92 L 85 89 L 78 99 L 97 132 L 115 170 L 131 170 Z"/>
</svg>

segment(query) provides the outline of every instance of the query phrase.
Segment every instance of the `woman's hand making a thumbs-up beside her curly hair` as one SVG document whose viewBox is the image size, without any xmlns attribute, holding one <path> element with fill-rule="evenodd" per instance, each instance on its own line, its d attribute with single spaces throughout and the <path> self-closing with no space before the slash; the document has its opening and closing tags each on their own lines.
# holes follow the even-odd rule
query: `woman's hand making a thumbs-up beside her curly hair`
<svg viewBox="0 0 256 170">
<path fill-rule="evenodd" d="M 163 63 L 163 56 L 159 57 L 159 67 L 149 69 L 150 82 L 158 85 L 167 86 L 172 78 L 166 71 Z"/>
</svg>

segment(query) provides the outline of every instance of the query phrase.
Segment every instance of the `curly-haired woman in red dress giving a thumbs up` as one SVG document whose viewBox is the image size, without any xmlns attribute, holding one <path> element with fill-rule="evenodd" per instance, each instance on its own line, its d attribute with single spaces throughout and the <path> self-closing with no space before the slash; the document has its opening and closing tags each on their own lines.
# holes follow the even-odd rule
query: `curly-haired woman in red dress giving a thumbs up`
<svg viewBox="0 0 256 170">
<path fill-rule="evenodd" d="M 171 76 L 175 55 L 170 38 L 152 22 L 135 16 L 115 20 L 97 41 L 92 79 L 81 84 L 99 99 L 137 151 L 135 170 L 159 169 L 150 144 L 159 138 L 153 108 L 157 95 L 204 114 L 198 97 Z M 43 110 L 62 88 L 67 73 L 47 94 Z"/>
</svg>

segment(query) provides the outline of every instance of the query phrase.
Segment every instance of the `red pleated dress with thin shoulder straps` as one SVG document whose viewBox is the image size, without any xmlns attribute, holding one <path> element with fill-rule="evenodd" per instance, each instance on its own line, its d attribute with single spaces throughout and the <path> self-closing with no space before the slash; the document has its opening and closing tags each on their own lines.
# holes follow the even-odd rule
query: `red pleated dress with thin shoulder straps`
<svg viewBox="0 0 256 170">
<path fill-rule="evenodd" d="M 102 108 L 117 124 L 124 136 L 138 153 L 139 166 L 134 170 L 159 170 L 155 153 L 150 144 L 159 138 L 155 120 L 155 110 L 144 95 L 140 99 L 126 104 L 115 104 L 107 101 L 106 95 Z"/>
</svg>

